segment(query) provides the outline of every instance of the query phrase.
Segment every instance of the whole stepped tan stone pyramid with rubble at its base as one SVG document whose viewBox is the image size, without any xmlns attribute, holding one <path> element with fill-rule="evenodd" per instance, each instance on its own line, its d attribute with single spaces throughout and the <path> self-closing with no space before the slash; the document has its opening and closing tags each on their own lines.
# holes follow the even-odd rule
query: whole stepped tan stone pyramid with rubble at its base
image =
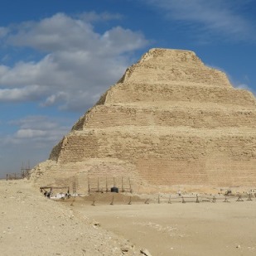
<svg viewBox="0 0 256 256">
<path fill-rule="evenodd" d="M 253 94 L 192 51 L 152 49 L 32 176 L 46 183 L 76 176 L 84 185 L 97 178 L 98 186 L 113 177 L 133 187 L 254 186 L 255 127 Z"/>
</svg>

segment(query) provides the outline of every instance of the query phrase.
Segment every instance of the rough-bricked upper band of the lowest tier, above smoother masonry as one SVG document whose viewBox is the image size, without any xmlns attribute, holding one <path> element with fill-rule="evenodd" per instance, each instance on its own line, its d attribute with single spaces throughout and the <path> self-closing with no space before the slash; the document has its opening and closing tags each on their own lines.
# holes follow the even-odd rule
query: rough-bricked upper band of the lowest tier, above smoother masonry
<svg viewBox="0 0 256 256">
<path fill-rule="evenodd" d="M 256 157 L 254 128 L 133 127 L 87 128 L 73 131 L 59 144 L 60 161 L 84 161 L 90 157 L 135 159 L 170 157 L 191 159 L 212 156 Z M 182 154 L 184 153 L 184 156 Z"/>
</svg>

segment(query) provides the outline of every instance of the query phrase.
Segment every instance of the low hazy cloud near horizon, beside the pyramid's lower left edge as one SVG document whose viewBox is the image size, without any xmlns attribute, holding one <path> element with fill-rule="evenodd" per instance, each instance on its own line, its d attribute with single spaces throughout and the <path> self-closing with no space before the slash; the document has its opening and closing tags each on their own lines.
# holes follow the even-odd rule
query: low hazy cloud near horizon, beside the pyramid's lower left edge
<svg viewBox="0 0 256 256">
<path fill-rule="evenodd" d="M 17 131 L 9 135 L 0 133 L 0 176 L 6 172 L 19 171 L 24 161 L 30 161 L 31 167 L 37 162 L 45 161 L 51 148 L 68 133 L 72 123 L 67 118 L 43 115 L 31 115 L 10 121 L 10 127 L 17 128 Z"/>
</svg>

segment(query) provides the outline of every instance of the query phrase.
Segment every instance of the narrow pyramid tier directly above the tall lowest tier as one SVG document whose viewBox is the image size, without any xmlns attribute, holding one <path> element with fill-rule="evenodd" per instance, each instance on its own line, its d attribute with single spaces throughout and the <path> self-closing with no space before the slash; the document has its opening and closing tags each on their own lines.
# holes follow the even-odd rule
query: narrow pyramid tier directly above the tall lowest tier
<svg viewBox="0 0 256 256">
<path fill-rule="evenodd" d="M 91 109 L 73 127 L 74 130 L 86 128 L 108 128 L 116 126 L 163 126 L 191 128 L 249 127 L 256 128 L 256 110 L 214 109 L 205 104 L 205 109 L 192 106 L 170 107 L 167 109 L 142 108 L 136 106 L 104 106 Z M 195 107 L 195 104 L 193 104 Z"/>
</svg>

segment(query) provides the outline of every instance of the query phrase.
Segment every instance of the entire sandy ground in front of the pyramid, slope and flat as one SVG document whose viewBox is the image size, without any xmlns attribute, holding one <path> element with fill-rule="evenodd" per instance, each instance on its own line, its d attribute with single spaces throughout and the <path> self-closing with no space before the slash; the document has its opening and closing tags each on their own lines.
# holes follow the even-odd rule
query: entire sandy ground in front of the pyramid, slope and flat
<svg viewBox="0 0 256 256">
<path fill-rule="evenodd" d="M 256 198 L 93 206 L 49 200 L 28 181 L 0 181 L 0 191 L 0 255 L 256 254 Z"/>
</svg>

